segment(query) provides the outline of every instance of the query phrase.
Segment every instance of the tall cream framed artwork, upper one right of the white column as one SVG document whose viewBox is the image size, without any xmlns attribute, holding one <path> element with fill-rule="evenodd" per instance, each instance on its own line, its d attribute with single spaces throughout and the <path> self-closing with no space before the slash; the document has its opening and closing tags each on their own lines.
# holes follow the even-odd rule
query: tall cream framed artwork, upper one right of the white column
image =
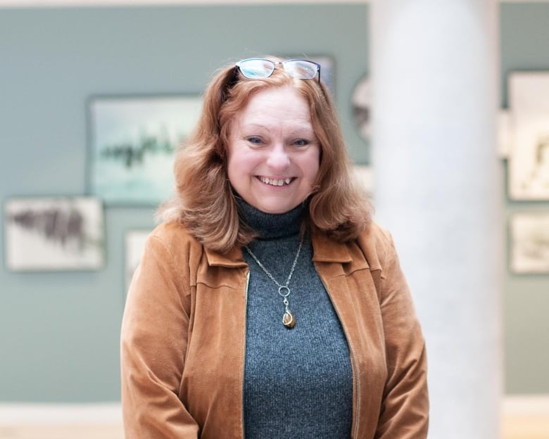
<svg viewBox="0 0 549 439">
<path fill-rule="evenodd" d="M 509 102 L 509 196 L 549 200 L 549 72 L 513 72 Z"/>
</svg>

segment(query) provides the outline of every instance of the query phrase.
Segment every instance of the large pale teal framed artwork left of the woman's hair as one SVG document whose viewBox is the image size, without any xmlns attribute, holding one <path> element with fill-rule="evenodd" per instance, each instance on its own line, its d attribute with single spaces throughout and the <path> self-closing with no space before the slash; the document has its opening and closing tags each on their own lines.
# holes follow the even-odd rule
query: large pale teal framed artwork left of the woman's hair
<svg viewBox="0 0 549 439">
<path fill-rule="evenodd" d="M 96 96 L 89 101 L 88 191 L 106 205 L 158 205 L 173 194 L 173 157 L 201 96 Z"/>
</svg>

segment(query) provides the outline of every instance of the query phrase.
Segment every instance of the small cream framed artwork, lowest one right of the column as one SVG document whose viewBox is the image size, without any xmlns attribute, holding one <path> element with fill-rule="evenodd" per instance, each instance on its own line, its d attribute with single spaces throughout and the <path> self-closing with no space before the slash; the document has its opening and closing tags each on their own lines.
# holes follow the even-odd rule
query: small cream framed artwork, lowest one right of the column
<svg viewBox="0 0 549 439">
<path fill-rule="evenodd" d="M 517 213 L 510 220 L 511 269 L 549 273 L 549 213 Z"/>
</svg>

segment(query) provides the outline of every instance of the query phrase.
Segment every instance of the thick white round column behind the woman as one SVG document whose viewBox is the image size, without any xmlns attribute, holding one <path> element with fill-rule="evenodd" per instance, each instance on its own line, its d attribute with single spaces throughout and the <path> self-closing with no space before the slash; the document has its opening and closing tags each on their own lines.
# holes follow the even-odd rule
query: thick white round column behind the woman
<svg viewBox="0 0 549 439">
<path fill-rule="evenodd" d="M 432 439 L 500 437 L 496 0 L 371 0 L 376 219 L 429 359 Z"/>
</svg>

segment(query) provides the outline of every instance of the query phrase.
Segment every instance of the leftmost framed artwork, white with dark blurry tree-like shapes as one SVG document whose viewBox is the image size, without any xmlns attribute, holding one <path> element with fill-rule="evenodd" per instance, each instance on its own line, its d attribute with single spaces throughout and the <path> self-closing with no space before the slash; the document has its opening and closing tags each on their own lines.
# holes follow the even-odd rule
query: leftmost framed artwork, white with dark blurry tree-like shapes
<svg viewBox="0 0 549 439">
<path fill-rule="evenodd" d="M 5 205 L 6 265 L 13 271 L 94 270 L 103 265 L 97 198 L 11 198 Z"/>
</svg>

